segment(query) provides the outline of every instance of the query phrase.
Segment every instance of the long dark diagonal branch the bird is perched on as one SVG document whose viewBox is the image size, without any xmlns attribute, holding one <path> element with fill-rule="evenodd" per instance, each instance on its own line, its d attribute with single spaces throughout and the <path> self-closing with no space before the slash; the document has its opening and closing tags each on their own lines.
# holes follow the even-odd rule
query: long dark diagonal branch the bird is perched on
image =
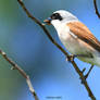
<svg viewBox="0 0 100 100">
<path fill-rule="evenodd" d="M 45 27 L 45 25 L 42 25 L 36 17 L 34 17 L 29 11 L 26 9 L 24 2 L 22 0 L 17 0 L 18 3 L 21 4 L 21 7 L 23 8 L 23 10 L 25 11 L 25 13 L 27 14 L 28 17 L 30 17 L 36 24 L 38 24 L 41 29 L 45 32 L 45 34 L 48 36 L 48 38 L 50 39 L 50 41 L 57 47 L 59 48 L 59 50 L 62 51 L 62 53 L 67 58 L 70 59 L 68 57 L 68 53 L 52 38 L 52 36 L 50 35 L 50 33 L 48 32 L 48 29 Z M 91 98 L 91 100 L 96 100 L 96 97 L 93 96 L 91 89 L 89 88 L 88 86 L 88 83 L 87 80 L 85 79 L 84 75 L 83 75 L 83 72 L 78 68 L 77 64 L 74 62 L 74 61 L 71 61 L 71 63 L 73 64 L 75 71 L 77 72 L 77 74 L 79 75 L 82 82 L 83 82 L 83 85 L 85 86 L 87 92 L 88 92 L 88 96 Z"/>
</svg>

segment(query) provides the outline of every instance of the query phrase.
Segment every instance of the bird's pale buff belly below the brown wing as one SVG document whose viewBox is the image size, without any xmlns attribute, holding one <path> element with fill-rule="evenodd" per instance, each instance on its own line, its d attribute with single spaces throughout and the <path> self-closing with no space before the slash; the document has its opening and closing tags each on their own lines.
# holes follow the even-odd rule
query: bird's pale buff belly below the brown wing
<svg viewBox="0 0 100 100">
<path fill-rule="evenodd" d="M 98 55 L 97 55 L 98 58 L 96 57 L 98 52 L 96 52 L 95 49 L 91 47 L 87 48 L 86 42 L 83 42 L 78 38 L 74 38 L 70 34 L 59 35 L 59 37 L 62 43 L 65 46 L 66 50 L 70 51 L 72 54 L 85 54 L 85 55 L 92 54 L 93 57 L 93 58 L 78 57 L 79 60 L 100 66 L 100 57 Z"/>
</svg>

